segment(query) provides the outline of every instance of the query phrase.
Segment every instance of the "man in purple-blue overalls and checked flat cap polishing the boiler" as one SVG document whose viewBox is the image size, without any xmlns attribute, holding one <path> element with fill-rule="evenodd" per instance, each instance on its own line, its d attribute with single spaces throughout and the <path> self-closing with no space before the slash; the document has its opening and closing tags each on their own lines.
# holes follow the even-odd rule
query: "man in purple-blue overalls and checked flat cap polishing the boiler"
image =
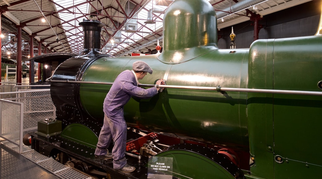
<svg viewBox="0 0 322 179">
<path fill-rule="evenodd" d="M 143 89 L 138 87 L 138 80 L 152 74 L 150 66 L 142 61 L 136 61 L 132 65 L 133 70 L 121 72 L 115 79 L 111 89 L 106 95 L 103 103 L 104 124 L 99 134 L 99 141 L 95 150 L 95 158 L 113 158 L 113 167 L 123 173 L 131 173 L 134 166 L 128 165 L 125 158 L 127 125 L 123 116 L 123 107 L 130 100 L 131 96 L 138 98 L 150 98 L 156 95 L 159 88 L 153 87 Z M 156 84 L 160 85 L 161 80 Z M 111 141 L 114 141 L 112 153 L 107 151 Z"/>
</svg>

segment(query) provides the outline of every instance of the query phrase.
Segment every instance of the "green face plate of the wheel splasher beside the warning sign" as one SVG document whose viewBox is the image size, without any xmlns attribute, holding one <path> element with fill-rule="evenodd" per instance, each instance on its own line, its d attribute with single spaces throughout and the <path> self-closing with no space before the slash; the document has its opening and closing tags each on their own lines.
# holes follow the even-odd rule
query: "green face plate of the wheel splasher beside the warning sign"
<svg viewBox="0 0 322 179">
<path fill-rule="evenodd" d="M 168 150 L 157 154 L 156 156 L 173 158 L 173 176 L 181 179 L 235 178 L 216 162 L 194 152 L 184 150 Z"/>
</svg>

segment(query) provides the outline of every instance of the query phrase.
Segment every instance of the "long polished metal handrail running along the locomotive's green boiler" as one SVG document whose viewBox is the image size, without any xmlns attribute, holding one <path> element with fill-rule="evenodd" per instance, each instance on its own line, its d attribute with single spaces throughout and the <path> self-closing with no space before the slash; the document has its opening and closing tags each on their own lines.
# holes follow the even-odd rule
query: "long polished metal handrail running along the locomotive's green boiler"
<svg viewBox="0 0 322 179">
<path fill-rule="evenodd" d="M 112 85 L 112 82 L 95 82 L 95 81 L 69 81 L 69 80 L 49 80 L 50 82 L 63 82 L 63 83 L 86 83 L 86 84 L 106 84 Z M 235 92 L 251 92 L 251 93 L 272 93 L 272 94 L 295 94 L 295 95 L 315 95 L 322 96 L 322 91 L 299 91 L 299 90 L 267 90 L 267 89 L 249 89 L 249 88 L 225 88 L 217 87 L 204 87 L 204 86 L 179 86 L 179 85 L 152 85 L 152 84 L 139 84 L 141 87 L 157 87 L 157 88 L 174 88 L 186 90 L 213 90 L 218 92 L 235 91 Z"/>
</svg>

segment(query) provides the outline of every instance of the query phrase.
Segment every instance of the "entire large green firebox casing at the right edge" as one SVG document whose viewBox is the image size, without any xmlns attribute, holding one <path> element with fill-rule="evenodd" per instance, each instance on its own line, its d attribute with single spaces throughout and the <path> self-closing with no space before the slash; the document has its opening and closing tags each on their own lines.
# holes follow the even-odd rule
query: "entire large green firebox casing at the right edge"
<svg viewBox="0 0 322 179">
<path fill-rule="evenodd" d="M 249 57 L 249 88 L 321 91 L 317 88 L 322 79 L 321 41 L 322 36 L 311 36 L 254 42 Z M 249 93 L 250 151 L 256 161 L 252 175 L 319 176 L 321 107 L 321 96 Z M 276 155 L 284 162 L 275 162 Z"/>
</svg>

